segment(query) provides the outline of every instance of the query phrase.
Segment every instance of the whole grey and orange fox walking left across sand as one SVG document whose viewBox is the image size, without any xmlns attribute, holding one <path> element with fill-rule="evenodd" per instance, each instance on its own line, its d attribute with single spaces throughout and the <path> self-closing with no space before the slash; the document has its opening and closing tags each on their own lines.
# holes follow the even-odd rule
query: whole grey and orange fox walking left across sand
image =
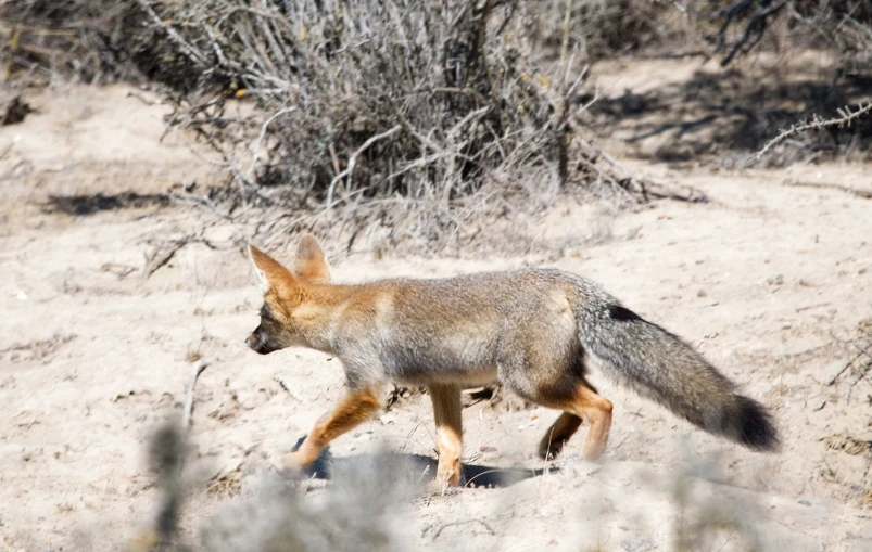
<svg viewBox="0 0 872 552">
<path fill-rule="evenodd" d="M 307 347 L 338 358 L 345 391 L 280 470 L 305 470 L 337 437 L 376 414 L 393 382 L 428 389 L 438 465 L 432 485 L 462 479 L 464 388 L 498 381 L 561 413 L 539 444 L 555 459 L 589 424 L 585 460 L 606 450 L 612 403 L 589 382 L 591 365 L 693 425 L 751 450 L 780 446 L 770 412 L 681 337 L 643 319 L 597 283 L 530 268 L 443 279 L 331 281 L 317 240 L 300 236 L 286 268 L 249 245 L 263 291 L 260 324 L 245 344 L 261 355 Z"/>
</svg>

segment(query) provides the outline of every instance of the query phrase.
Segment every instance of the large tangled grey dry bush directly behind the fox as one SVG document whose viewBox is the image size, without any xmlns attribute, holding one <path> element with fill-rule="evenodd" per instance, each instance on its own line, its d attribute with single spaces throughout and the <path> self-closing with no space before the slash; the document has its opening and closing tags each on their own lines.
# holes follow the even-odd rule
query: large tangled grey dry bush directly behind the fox
<svg viewBox="0 0 872 552">
<path fill-rule="evenodd" d="M 177 97 L 170 124 L 225 159 L 232 185 L 208 201 L 230 216 L 239 205 L 267 207 L 275 217 L 258 228 L 267 235 L 314 227 L 344 230 L 351 244 L 378 228 L 388 243 L 426 252 L 481 224 L 522 235 L 513 221 L 591 183 L 632 201 L 625 189 L 637 184 L 573 142 L 583 67 L 569 50 L 549 60 L 529 8 L 164 7 L 153 20 L 169 22 L 166 35 L 201 75 L 197 92 Z"/>
</svg>

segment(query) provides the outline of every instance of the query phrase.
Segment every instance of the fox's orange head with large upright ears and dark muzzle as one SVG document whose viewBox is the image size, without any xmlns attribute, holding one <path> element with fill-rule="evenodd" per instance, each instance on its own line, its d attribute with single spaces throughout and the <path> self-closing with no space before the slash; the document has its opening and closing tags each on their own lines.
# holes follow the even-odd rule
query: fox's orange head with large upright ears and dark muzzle
<svg viewBox="0 0 872 552">
<path fill-rule="evenodd" d="M 306 345 L 301 322 L 305 322 L 307 284 L 330 281 L 330 268 L 312 234 L 300 236 L 293 269 L 249 245 L 249 256 L 264 291 L 261 324 L 245 339 L 255 352 L 267 355 L 294 345 Z"/>
</svg>

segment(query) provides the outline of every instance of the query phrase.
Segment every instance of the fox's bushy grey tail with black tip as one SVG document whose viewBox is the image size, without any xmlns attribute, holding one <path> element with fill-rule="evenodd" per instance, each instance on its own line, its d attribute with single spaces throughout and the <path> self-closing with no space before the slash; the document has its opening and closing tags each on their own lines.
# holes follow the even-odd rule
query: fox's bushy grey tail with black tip
<svg viewBox="0 0 872 552">
<path fill-rule="evenodd" d="M 605 372 L 709 433 L 755 450 L 778 448 L 766 408 L 735 394 L 693 347 L 610 297 L 586 299 L 576 309 L 579 339 Z"/>
</svg>

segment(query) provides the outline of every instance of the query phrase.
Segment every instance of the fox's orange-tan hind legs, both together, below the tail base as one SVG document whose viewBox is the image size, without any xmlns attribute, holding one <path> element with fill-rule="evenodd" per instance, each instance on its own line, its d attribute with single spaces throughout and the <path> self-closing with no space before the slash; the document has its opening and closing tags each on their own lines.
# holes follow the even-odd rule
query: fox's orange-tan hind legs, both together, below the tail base
<svg viewBox="0 0 872 552">
<path fill-rule="evenodd" d="M 591 424 L 582 445 L 584 458 L 596 460 L 603 455 L 611 429 L 611 401 L 597 395 L 586 381 L 578 382 L 574 393 L 569 397 L 549 397 L 543 393 L 532 398 L 543 407 L 564 411 L 539 445 L 541 458 L 556 457 L 564 444 L 579 428 L 582 420 Z"/>
</svg>

